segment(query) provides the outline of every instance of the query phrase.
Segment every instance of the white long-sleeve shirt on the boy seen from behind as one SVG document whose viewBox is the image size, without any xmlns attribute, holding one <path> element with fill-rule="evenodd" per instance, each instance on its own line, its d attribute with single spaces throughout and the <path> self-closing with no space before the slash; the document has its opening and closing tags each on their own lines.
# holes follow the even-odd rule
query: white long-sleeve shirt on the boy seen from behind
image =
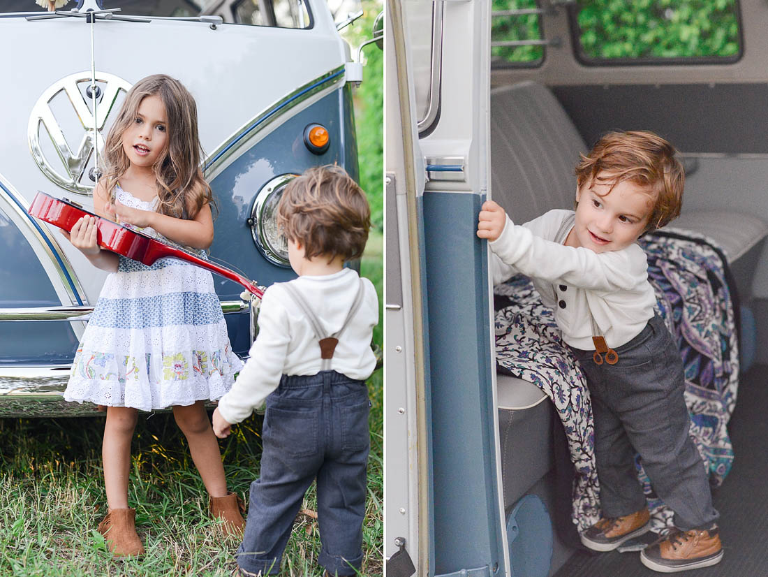
<svg viewBox="0 0 768 577">
<path fill-rule="evenodd" d="M 304 276 L 289 283 L 306 299 L 328 334 L 342 327 L 359 289 L 359 277 L 345 268 L 336 274 Z M 333 352 L 331 369 L 350 379 L 365 380 L 376 367 L 371 350 L 373 327 L 379 322 L 379 300 L 370 280 L 363 278 L 362 303 L 349 320 Z M 227 423 L 240 423 L 261 406 L 280 384 L 280 376 L 314 375 L 322 359 L 317 337 L 299 304 L 283 285 L 264 291 L 259 312 L 259 334 L 232 389 L 219 400 Z"/>
</svg>

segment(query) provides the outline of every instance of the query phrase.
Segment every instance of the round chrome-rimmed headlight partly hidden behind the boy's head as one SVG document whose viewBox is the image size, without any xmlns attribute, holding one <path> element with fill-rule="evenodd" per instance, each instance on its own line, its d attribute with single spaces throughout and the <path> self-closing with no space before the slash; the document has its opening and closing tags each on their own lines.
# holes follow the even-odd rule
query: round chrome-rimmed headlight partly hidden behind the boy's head
<svg viewBox="0 0 768 577">
<path fill-rule="evenodd" d="M 253 242 L 266 260 L 280 267 L 290 267 L 288 261 L 288 242 L 277 229 L 277 203 L 283 196 L 286 185 L 298 174 L 281 174 L 261 187 L 253 201 L 251 210 L 250 234 Z"/>
</svg>

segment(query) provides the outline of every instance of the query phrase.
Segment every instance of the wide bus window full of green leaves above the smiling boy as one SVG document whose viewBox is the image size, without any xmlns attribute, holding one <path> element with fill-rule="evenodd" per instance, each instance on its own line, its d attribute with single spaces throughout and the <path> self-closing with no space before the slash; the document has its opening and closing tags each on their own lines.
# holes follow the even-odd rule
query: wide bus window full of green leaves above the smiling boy
<svg viewBox="0 0 768 577">
<path fill-rule="evenodd" d="M 584 65 L 729 64 L 743 51 L 737 0 L 578 0 L 571 18 Z"/>
</svg>

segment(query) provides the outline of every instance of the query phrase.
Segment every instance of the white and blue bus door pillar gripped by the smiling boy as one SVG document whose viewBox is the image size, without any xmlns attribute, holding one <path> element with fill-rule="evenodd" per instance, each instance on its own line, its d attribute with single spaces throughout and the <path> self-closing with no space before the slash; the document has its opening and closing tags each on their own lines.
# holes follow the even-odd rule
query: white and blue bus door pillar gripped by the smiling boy
<svg viewBox="0 0 768 577">
<path fill-rule="evenodd" d="M 406 17 L 403 4 L 387 2 L 385 25 L 384 555 L 408 555 L 423 577 L 511 575 L 488 250 L 475 238 L 490 183 L 490 11 L 433 4 L 451 65 L 438 62 L 429 78 L 412 69 L 408 28 L 424 23 L 414 15 L 431 24 L 432 5 L 411 3 Z M 442 85 L 424 107 L 432 126 L 419 126 L 415 81 Z"/>
</svg>

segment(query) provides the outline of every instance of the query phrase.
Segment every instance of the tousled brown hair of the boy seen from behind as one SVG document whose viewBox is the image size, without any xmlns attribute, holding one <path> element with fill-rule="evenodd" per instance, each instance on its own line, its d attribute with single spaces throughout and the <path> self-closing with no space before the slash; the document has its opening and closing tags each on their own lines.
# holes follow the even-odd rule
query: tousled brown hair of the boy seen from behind
<svg viewBox="0 0 768 577">
<path fill-rule="evenodd" d="M 313 167 L 285 187 L 277 226 L 304 247 L 306 258 L 359 258 L 368 241 L 371 209 L 366 193 L 336 164 Z"/>
</svg>

